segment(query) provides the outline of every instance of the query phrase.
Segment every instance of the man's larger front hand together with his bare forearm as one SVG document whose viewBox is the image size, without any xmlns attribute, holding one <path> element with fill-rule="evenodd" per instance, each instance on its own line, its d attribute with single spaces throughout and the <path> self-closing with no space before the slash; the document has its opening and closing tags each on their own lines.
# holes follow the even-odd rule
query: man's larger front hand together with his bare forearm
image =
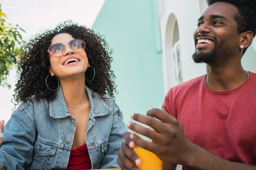
<svg viewBox="0 0 256 170">
<path fill-rule="evenodd" d="M 130 138 L 134 144 L 155 153 L 164 163 L 181 164 L 187 168 L 202 170 L 255 170 L 256 168 L 244 163 L 228 161 L 193 144 L 185 137 L 177 119 L 164 109 L 151 109 L 147 112 L 147 116 L 134 113 L 131 117 L 155 129 L 153 131 L 128 122 L 129 129 L 153 140 L 153 142 L 146 142 L 132 133 Z"/>
</svg>

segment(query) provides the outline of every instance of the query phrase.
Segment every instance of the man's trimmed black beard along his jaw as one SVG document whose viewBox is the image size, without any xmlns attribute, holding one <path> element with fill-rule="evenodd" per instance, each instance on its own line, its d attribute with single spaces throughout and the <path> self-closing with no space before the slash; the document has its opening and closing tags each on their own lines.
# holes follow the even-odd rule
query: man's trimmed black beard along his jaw
<svg viewBox="0 0 256 170">
<path fill-rule="evenodd" d="M 223 50 L 223 45 L 226 41 L 222 41 L 217 44 L 215 41 L 214 48 L 210 52 L 197 52 L 195 48 L 195 53 L 192 55 L 195 63 L 207 63 L 214 66 L 224 66 L 225 58 L 227 57 L 227 51 Z"/>
</svg>

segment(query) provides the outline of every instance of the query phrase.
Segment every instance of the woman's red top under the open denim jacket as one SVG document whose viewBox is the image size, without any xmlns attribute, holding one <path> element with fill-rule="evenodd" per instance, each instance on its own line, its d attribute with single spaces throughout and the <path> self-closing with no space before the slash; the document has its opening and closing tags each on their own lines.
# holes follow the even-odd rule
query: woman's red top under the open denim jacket
<svg viewBox="0 0 256 170">
<path fill-rule="evenodd" d="M 92 163 L 86 143 L 78 148 L 71 149 L 66 170 L 90 170 L 91 168 Z"/>
</svg>

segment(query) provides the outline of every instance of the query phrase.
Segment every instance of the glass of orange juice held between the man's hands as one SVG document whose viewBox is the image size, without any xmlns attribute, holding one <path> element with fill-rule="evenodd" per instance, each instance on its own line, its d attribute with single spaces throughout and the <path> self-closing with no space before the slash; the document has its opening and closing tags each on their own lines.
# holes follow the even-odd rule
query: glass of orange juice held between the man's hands
<svg viewBox="0 0 256 170">
<path fill-rule="evenodd" d="M 146 127 L 148 129 L 154 130 L 152 127 L 146 125 L 146 124 L 142 124 L 140 122 L 137 122 L 135 120 L 131 120 L 130 122 L 134 122 L 137 123 L 143 127 Z M 148 142 L 152 142 L 152 140 L 146 136 L 143 136 L 139 133 L 136 133 L 135 131 L 130 130 L 130 133 L 135 133 L 136 135 L 138 135 L 139 137 L 141 137 L 142 139 L 148 141 Z M 141 165 L 138 166 L 139 169 L 141 170 L 162 170 L 162 161 L 161 159 L 159 159 L 157 157 L 157 155 L 155 155 L 154 153 L 141 148 L 139 146 L 135 146 L 133 148 L 133 150 L 135 151 L 135 153 L 139 156 L 139 158 L 141 159 Z"/>
</svg>

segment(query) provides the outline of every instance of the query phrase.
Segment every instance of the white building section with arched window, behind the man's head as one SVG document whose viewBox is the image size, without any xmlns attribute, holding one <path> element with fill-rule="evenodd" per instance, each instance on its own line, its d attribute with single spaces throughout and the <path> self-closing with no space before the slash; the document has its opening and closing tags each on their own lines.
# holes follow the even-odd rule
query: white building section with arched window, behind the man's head
<svg viewBox="0 0 256 170">
<path fill-rule="evenodd" d="M 205 64 L 191 58 L 195 52 L 193 32 L 207 8 L 206 0 L 158 0 L 162 42 L 164 92 L 183 81 L 206 73 Z M 256 72 L 256 41 L 242 58 L 243 68 Z"/>
</svg>

